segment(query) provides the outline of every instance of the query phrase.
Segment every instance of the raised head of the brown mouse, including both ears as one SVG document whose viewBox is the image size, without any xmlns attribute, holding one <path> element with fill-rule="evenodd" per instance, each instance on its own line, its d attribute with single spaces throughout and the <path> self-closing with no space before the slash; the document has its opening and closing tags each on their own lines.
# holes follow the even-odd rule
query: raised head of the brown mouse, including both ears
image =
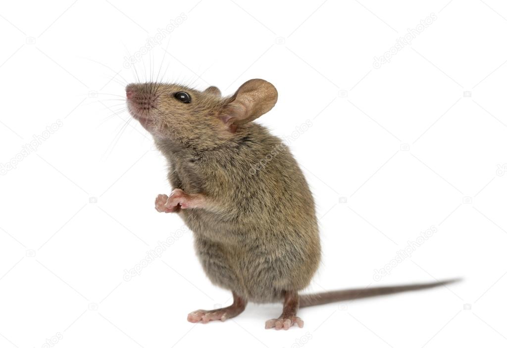
<svg viewBox="0 0 507 348">
<path fill-rule="evenodd" d="M 234 138 L 271 110 L 278 93 L 268 81 L 252 79 L 225 98 L 215 86 L 200 92 L 164 83 L 131 83 L 126 96 L 132 117 L 156 139 L 205 150 Z"/>
</svg>

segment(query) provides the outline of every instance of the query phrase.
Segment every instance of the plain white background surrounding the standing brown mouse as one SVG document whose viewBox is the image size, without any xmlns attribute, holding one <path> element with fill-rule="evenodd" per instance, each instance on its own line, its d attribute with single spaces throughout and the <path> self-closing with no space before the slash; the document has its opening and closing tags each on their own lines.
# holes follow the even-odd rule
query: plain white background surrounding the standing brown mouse
<svg viewBox="0 0 507 348">
<path fill-rule="evenodd" d="M 0 14 L 0 163 L 18 157 L 0 177 L 0 346 L 505 346 L 505 2 L 62 0 L 4 2 Z M 135 81 L 124 57 L 178 17 L 135 64 L 141 80 L 167 67 L 166 81 L 227 95 L 264 78 L 279 99 L 259 122 L 280 137 L 312 123 L 291 143 L 323 245 L 308 292 L 464 281 L 303 309 L 304 328 L 286 332 L 264 329 L 276 304 L 188 323 L 230 294 L 207 280 L 178 216 L 155 211 L 170 192 L 165 159 L 125 125 L 121 100 Z"/>
</svg>

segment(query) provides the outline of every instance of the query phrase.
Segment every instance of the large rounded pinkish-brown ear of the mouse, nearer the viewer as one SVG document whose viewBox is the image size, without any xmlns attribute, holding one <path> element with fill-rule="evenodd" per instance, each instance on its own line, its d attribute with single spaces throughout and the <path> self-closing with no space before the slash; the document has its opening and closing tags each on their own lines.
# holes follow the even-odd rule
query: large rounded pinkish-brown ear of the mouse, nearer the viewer
<svg viewBox="0 0 507 348">
<path fill-rule="evenodd" d="M 274 85 L 255 78 L 243 83 L 222 110 L 220 118 L 234 132 L 237 126 L 265 114 L 278 99 Z"/>
</svg>

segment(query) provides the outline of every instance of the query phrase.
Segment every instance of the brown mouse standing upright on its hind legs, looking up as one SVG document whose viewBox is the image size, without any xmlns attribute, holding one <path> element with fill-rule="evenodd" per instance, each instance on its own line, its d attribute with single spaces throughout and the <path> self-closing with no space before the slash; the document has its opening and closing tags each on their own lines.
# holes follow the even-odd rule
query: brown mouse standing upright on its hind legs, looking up
<svg viewBox="0 0 507 348">
<path fill-rule="evenodd" d="M 456 281 L 300 294 L 320 264 L 320 237 L 298 162 L 280 138 L 255 122 L 277 100 L 275 86 L 260 78 L 225 97 L 216 86 L 126 86 L 130 115 L 153 136 L 169 167 L 172 191 L 156 197 L 155 209 L 183 219 L 211 283 L 232 292 L 232 305 L 196 310 L 187 320 L 225 321 L 248 302 L 281 302 L 281 315 L 265 328 L 302 328 L 299 308 Z"/>
</svg>

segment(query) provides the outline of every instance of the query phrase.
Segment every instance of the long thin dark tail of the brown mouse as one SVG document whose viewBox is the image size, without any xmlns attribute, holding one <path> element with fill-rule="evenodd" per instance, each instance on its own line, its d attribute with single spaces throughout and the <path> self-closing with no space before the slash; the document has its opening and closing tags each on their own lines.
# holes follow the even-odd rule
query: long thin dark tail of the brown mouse
<svg viewBox="0 0 507 348">
<path fill-rule="evenodd" d="M 315 294 L 304 294 L 299 296 L 299 307 L 310 307 L 317 305 L 324 305 L 325 303 L 339 302 L 352 300 L 356 298 L 372 297 L 379 295 L 389 295 L 398 292 L 415 291 L 422 289 L 429 289 L 437 286 L 446 286 L 451 283 L 460 281 L 461 279 L 450 279 L 432 283 L 410 284 L 410 285 L 395 285 L 395 286 L 381 286 L 374 288 L 363 289 L 347 289 L 336 290 L 328 292 L 319 292 Z"/>
</svg>

